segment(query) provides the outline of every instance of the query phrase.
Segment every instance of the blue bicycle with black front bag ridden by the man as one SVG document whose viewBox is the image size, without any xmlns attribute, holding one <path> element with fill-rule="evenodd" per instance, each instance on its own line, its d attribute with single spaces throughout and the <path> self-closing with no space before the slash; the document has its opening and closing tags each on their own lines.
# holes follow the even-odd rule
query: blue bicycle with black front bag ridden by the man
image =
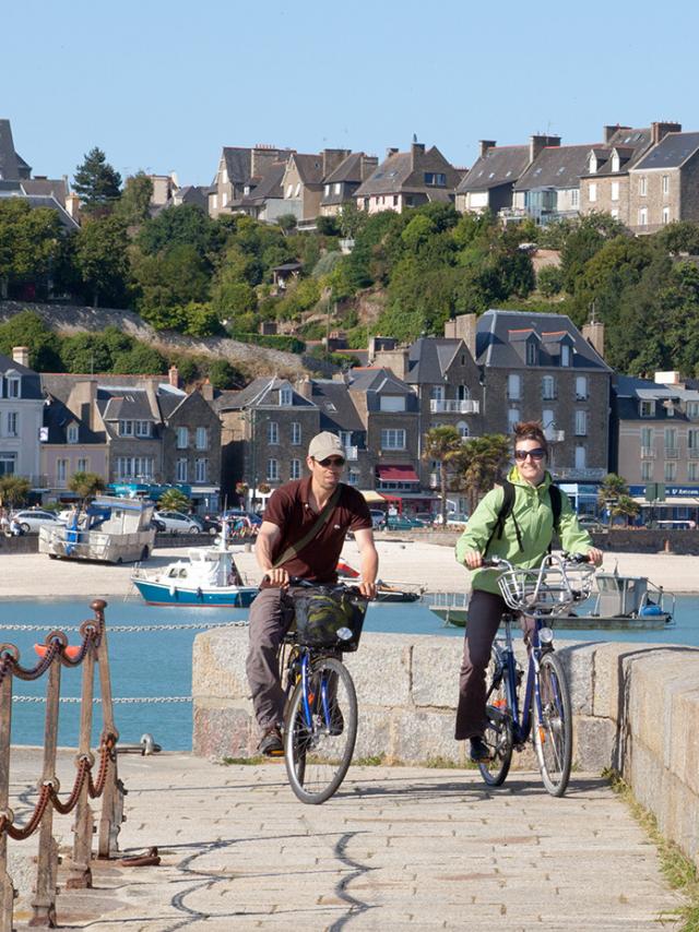
<svg viewBox="0 0 699 932">
<path fill-rule="evenodd" d="M 280 657 L 287 696 L 284 762 L 296 797 L 318 804 L 339 789 L 352 763 L 357 694 L 342 654 L 358 647 L 367 599 L 355 586 L 291 584 L 309 592 L 293 596 L 295 624 Z"/>
</svg>

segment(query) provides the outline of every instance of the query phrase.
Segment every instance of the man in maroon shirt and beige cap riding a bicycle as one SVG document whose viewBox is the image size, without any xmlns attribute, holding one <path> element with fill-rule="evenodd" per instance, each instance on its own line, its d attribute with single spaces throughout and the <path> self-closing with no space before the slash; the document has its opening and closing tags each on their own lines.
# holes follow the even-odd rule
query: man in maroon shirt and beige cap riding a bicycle
<svg viewBox="0 0 699 932">
<path fill-rule="evenodd" d="M 284 750 L 284 691 L 277 653 L 293 617 L 289 579 L 335 583 L 337 560 L 352 530 L 359 548 L 359 589 L 367 598 L 376 596 L 379 558 L 371 514 L 362 493 L 340 481 L 345 465 L 340 438 L 328 431 L 317 434 L 308 447 L 306 465 L 309 477 L 281 486 L 270 498 L 256 545 L 257 561 L 265 577 L 250 607 L 246 669 L 262 732 L 259 750 L 268 756 L 281 755 Z"/>
</svg>

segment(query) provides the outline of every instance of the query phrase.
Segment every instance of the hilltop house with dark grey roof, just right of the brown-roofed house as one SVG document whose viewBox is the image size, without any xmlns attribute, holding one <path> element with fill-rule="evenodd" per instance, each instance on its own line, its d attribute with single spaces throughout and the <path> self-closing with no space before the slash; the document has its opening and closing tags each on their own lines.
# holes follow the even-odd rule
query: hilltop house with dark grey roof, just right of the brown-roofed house
<svg viewBox="0 0 699 932">
<path fill-rule="evenodd" d="M 560 136 L 533 135 L 529 145 L 497 146 L 481 140 L 481 152 L 457 188 L 455 206 L 461 213 L 498 214 L 513 203 L 514 183 L 546 146 L 560 145 Z"/>
</svg>

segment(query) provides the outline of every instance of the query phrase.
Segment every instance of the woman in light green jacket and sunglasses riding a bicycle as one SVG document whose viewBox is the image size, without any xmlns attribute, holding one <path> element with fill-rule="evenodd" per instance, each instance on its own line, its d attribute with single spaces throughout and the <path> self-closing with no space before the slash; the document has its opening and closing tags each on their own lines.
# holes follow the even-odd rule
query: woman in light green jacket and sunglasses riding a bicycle
<svg viewBox="0 0 699 932">
<path fill-rule="evenodd" d="M 457 561 L 476 571 L 469 602 L 454 733 L 457 741 L 471 740 L 474 762 L 487 760 L 490 753 L 483 740 L 487 725 L 485 673 L 500 618 L 507 611 L 497 584 L 498 571 L 479 569 L 483 561 L 503 557 L 514 566 L 537 566 L 550 547 L 556 524 L 565 550 L 584 553 L 595 565 L 602 562 L 602 551 L 592 546 L 590 535 L 578 524 L 568 497 L 558 490 L 550 492 L 552 477 L 546 469 L 548 443 L 540 423 L 514 426 L 513 453 L 514 466 L 508 476 L 513 487 L 511 509 L 503 507 L 505 487 L 493 489 L 469 518 L 455 548 Z M 559 500 L 557 521 L 554 499 Z"/>
</svg>

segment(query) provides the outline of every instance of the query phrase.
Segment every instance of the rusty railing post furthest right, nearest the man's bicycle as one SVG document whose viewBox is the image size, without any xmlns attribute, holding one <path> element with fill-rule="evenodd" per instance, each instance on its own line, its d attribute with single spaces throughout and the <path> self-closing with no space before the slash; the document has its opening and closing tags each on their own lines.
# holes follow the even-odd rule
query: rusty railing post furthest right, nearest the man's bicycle
<svg viewBox="0 0 699 932">
<path fill-rule="evenodd" d="M 107 630 L 105 625 L 104 599 L 95 599 L 91 604 L 99 626 L 100 637 L 97 647 L 97 664 L 99 666 L 99 691 L 102 694 L 102 720 L 103 741 L 108 734 L 114 734 L 115 741 L 119 732 L 114 724 L 114 709 L 111 704 L 111 679 L 109 677 L 109 652 L 107 649 Z M 123 822 L 123 785 L 117 773 L 117 749 L 114 749 L 114 757 L 109 763 L 109 772 L 105 782 L 102 799 L 102 814 L 99 817 L 99 836 L 97 840 L 97 857 L 114 858 L 119 851 L 118 837 Z"/>
</svg>

